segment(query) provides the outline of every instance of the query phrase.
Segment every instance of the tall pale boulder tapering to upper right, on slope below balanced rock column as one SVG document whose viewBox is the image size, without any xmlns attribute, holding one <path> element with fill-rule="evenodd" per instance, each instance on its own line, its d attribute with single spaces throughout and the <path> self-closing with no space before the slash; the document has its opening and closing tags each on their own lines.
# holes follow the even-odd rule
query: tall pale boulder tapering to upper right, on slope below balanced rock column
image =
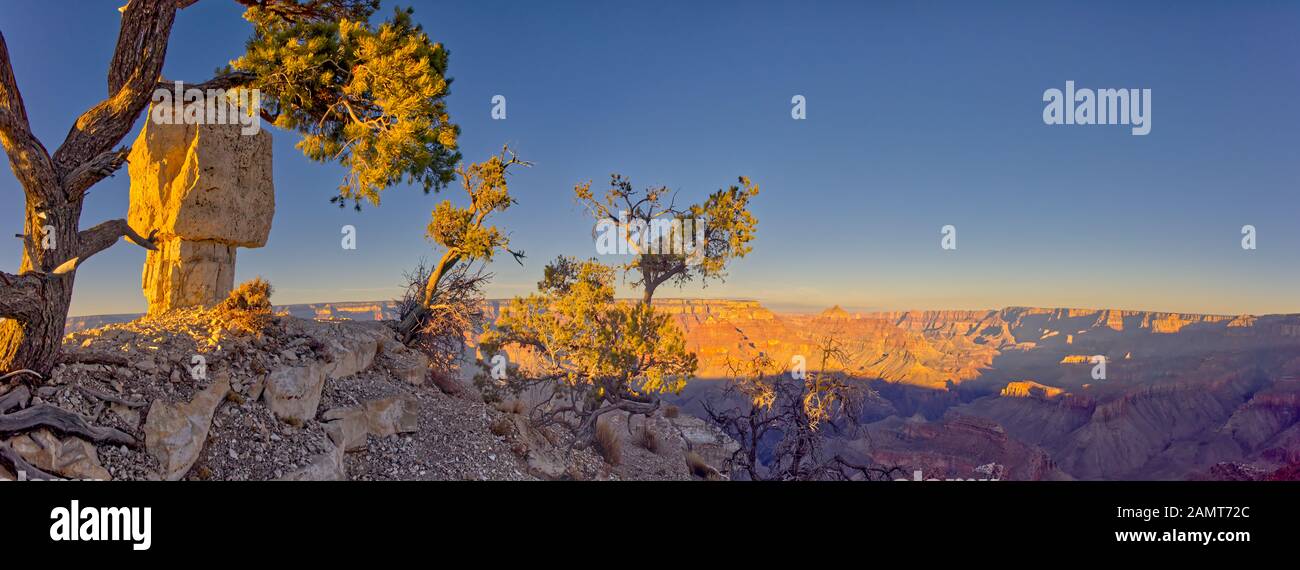
<svg viewBox="0 0 1300 570">
<path fill-rule="evenodd" d="M 212 415 L 230 392 L 230 380 L 216 375 L 213 383 L 186 403 L 155 400 L 144 419 L 144 449 L 157 461 L 164 480 L 185 478 L 208 440 Z"/>
</svg>

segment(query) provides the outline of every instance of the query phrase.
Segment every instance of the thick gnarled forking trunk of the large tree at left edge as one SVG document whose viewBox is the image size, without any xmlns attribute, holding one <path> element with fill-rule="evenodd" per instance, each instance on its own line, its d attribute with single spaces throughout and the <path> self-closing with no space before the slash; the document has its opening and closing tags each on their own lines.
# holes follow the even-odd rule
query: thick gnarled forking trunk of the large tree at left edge
<svg viewBox="0 0 1300 570">
<path fill-rule="evenodd" d="M 36 139 L 0 34 L 0 146 L 26 195 L 18 273 L 0 272 L 0 373 L 56 364 L 77 267 L 127 237 L 153 249 L 125 220 L 81 230 L 86 190 L 126 161 L 126 137 L 159 83 L 178 8 L 194 0 L 133 0 L 122 9 L 108 69 L 108 98 L 86 111 L 53 154 Z"/>
</svg>

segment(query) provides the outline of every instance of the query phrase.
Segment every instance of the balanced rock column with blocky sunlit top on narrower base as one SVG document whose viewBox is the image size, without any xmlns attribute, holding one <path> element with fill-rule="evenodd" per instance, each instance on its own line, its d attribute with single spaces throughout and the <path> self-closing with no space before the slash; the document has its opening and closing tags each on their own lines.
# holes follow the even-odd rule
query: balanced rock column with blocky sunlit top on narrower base
<svg viewBox="0 0 1300 570">
<path fill-rule="evenodd" d="M 144 260 L 144 298 L 151 315 L 211 307 L 234 288 L 235 249 L 261 247 L 270 234 L 270 133 L 150 117 L 127 157 L 131 228 L 159 232 Z"/>
</svg>

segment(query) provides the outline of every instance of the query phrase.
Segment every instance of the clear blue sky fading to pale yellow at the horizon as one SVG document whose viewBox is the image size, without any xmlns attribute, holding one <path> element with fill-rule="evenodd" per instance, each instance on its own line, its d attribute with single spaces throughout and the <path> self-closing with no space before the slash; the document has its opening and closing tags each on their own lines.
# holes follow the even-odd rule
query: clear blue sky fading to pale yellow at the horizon
<svg viewBox="0 0 1300 570">
<path fill-rule="evenodd" d="M 51 150 L 104 96 L 121 3 L 4 0 L 0 30 Z M 558 254 L 594 254 L 572 187 L 618 170 L 682 197 L 738 174 L 763 189 L 754 252 L 729 280 L 660 297 L 1300 312 L 1297 3 L 413 5 L 451 51 L 465 157 L 510 143 L 537 163 L 500 219 L 529 258 L 493 267 L 494 297 L 529 292 Z M 239 14 L 224 0 L 183 10 L 165 74 L 202 81 L 238 56 Z M 1150 134 L 1044 125 L 1043 91 L 1067 79 L 1152 88 Z M 489 116 L 497 94 L 506 121 Z M 790 118 L 794 94 L 806 121 Z M 265 276 L 280 303 L 386 299 L 437 255 L 421 234 L 441 198 L 395 187 L 378 208 L 339 211 L 328 199 L 341 168 L 273 134 L 274 228 L 266 247 L 240 250 L 239 280 Z M 125 170 L 96 186 L 82 225 L 125 217 L 127 187 Z M 21 199 L 5 168 L 6 236 Z M 339 247 L 344 224 L 356 251 Z M 957 251 L 939 247 L 945 224 Z M 1244 224 L 1256 251 L 1240 247 Z M 18 255 L 10 238 L 0 267 Z M 91 259 L 73 314 L 143 311 L 143 259 L 125 242 Z"/>
</svg>

